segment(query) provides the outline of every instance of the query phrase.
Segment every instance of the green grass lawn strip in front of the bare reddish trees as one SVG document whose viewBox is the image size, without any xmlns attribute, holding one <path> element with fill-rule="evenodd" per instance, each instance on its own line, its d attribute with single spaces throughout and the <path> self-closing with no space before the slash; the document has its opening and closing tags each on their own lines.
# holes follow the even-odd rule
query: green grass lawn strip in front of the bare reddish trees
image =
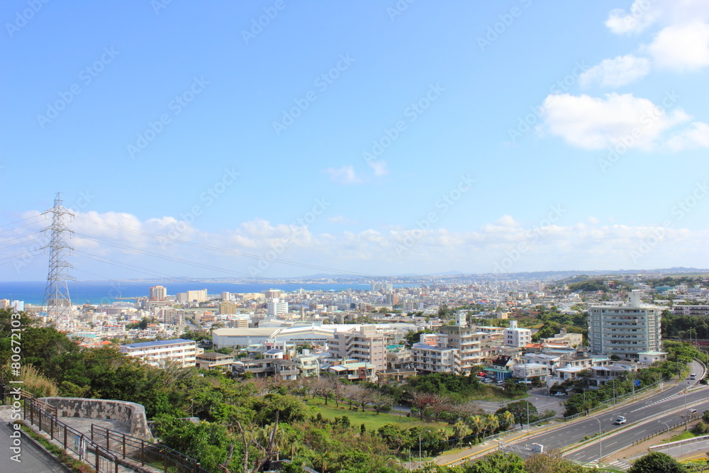
<svg viewBox="0 0 709 473">
<path fill-rule="evenodd" d="M 347 416 L 350 418 L 350 423 L 352 425 L 364 424 L 367 430 L 376 430 L 383 427 L 386 424 L 393 423 L 402 425 L 406 428 L 415 427 L 416 425 L 421 425 L 430 430 L 430 428 L 445 428 L 449 432 L 452 432 L 452 428 L 445 422 L 421 422 L 417 417 L 411 416 L 406 417 L 400 416 L 398 413 L 375 413 L 374 411 L 354 411 L 347 407 L 347 404 L 340 403 L 340 408 L 335 407 L 333 401 L 328 401 L 328 405 L 324 405 L 323 399 L 306 399 L 306 404 L 310 406 L 311 413 L 313 416 L 317 413 L 321 413 L 326 419 L 334 419 L 335 417 Z"/>
</svg>

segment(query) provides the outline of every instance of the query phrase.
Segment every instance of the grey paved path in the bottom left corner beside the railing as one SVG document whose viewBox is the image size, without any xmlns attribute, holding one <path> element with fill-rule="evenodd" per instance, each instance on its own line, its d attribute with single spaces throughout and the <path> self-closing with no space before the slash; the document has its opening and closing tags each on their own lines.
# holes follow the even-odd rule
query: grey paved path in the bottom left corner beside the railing
<svg viewBox="0 0 709 473">
<path fill-rule="evenodd" d="M 11 421 L 10 408 L 0 407 L 0 471 L 3 473 L 67 473 L 67 469 L 55 457 L 35 445 L 34 441 L 23 435 L 20 441 L 21 462 L 11 460 L 15 455 L 11 452 L 13 439 L 10 435 L 14 430 L 8 424 Z"/>
</svg>

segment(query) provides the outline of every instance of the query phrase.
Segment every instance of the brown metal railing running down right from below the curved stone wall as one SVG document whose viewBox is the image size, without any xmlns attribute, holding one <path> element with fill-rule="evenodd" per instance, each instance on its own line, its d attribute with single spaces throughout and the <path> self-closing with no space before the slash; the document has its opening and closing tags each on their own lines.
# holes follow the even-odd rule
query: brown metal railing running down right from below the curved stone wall
<svg viewBox="0 0 709 473">
<path fill-rule="evenodd" d="M 199 461 L 173 450 L 166 445 L 146 442 L 115 430 L 91 424 L 91 441 L 101 445 L 109 452 L 159 468 L 164 473 L 211 473 L 203 469 Z"/>
</svg>

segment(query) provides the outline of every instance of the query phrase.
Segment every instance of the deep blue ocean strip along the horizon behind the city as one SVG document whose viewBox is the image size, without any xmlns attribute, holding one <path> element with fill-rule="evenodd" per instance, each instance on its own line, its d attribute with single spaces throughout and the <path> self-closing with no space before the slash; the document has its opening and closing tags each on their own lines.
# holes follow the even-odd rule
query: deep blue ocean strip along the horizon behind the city
<svg viewBox="0 0 709 473">
<path fill-rule="evenodd" d="M 42 304 L 45 281 L 2 282 L 0 281 L 0 299 L 24 301 L 25 304 Z M 369 290 L 369 284 L 318 283 L 234 283 L 234 282 L 166 282 L 166 281 L 70 281 L 69 297 L 74 304 L 111 304 L 121 297 L 147 297 L 152 286 L 165 286 L 167 294 L 174 295 L 195 289 L 207 289 L 208 294 L 221 292 L 261 292 L 267 289 L 282 291 L 346 291 Z M 413 287 L 420 284 L 393 284 L 394 287 Z"/>
</svg>

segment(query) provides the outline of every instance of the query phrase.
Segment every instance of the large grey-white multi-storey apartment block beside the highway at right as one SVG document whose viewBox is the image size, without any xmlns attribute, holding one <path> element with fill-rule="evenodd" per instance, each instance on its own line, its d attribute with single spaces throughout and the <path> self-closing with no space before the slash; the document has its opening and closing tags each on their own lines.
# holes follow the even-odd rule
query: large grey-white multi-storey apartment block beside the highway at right
<svg viewBox="0 0 709 473">
<path fill-rule="evenodd" d="M 623 306 L 591 306 L 588 340 L 591 352 L 638 360 L 641 352 L 659 351 L 662 308 L 640 304 L 640 292 L 632 291 Z"/>
</svg>

